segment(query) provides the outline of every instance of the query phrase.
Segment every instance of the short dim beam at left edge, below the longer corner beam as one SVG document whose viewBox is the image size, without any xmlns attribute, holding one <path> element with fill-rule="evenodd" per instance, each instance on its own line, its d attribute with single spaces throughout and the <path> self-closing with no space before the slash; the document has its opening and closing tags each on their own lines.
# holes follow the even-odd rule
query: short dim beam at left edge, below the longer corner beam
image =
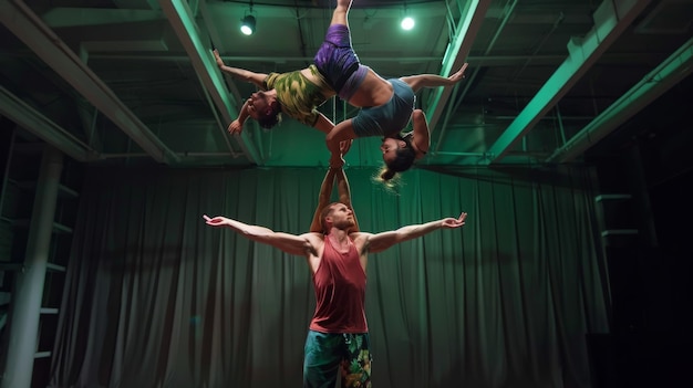
<svg viewBox="0 0 693 388">
<path fill-rule="evenodd" d="M 96 150 L 2 86 L 0 86 L 0 113 L 77 161 L 99 159 Z"/>
</svg>

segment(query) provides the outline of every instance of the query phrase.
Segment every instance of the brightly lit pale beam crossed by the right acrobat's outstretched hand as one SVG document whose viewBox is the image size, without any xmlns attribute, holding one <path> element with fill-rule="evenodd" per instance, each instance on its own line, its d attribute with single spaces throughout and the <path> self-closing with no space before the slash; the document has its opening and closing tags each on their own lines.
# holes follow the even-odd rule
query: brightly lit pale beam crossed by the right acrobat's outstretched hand
<svg viewBox="0 0 693 388">
<path fill-rule="evenodd" d="M 486 11 L 488 11 L 490 3 L 490 0 L 474 0 L 467 3 L 468 8 L 462 15 L 455 29 L 455 36 L 453 36 L 452 42 L 447 46 L 447 52 L 443 59 L 441 75 L 448 76 L 465 63 L 472 50 L 472 44 L 476 39 L 476 34 L 484 23 Z M 426 107 L 426 117 L 430 128 L 435 128 L 452 92 L 452 87 L 438 87 L 432 94 Z"/>
</svg>

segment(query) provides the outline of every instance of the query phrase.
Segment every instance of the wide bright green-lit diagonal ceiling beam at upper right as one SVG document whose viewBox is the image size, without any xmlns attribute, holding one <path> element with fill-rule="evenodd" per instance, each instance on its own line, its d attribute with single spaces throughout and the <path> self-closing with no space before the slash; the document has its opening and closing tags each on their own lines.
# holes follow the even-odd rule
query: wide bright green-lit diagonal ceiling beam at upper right
<svg viewBox="0 0 693 388">
<path fill-rule="evenodd" d="M 569 55 L 534 98 L 489 147 L 483 164 L 497 164 L 587 73 L 597 60 L 645 9 L 650 0 L 604 0 L 594 12 L 594 27 L 568 43 Z"/>
</svg>

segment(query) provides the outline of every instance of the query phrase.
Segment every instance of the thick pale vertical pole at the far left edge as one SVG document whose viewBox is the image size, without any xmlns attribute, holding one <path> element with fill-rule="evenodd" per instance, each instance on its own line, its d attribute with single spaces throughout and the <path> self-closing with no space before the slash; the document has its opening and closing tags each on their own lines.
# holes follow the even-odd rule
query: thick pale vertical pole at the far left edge
<svg viewBox="0 0 693 388">
<path fill-rule="evenodd" d="M 12 293 L 9 346 L 1 388 L 30 388 L 37 352 L 39 318 L 55 218 L 62 154 L 50 146 L 43 150 L 41 171 L 29 224 L 27 256 L 17 274 Z"/>
</svg>

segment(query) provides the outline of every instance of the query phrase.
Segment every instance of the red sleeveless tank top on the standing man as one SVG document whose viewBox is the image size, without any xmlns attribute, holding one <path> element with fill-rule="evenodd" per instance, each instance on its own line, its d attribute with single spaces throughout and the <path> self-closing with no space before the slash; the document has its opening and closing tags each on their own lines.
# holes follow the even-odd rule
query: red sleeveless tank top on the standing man
<svg viewBox="0 0 693 388">
<path fill-rule="evenodd" d="M 324 238 L 324 251 L 316 274 L 316 313 L 310 329 L 321 333 L 366 333 L 365 272 L 359 252 L 351 242 L 349 252 L 341 253 Z"/>
</svg>

